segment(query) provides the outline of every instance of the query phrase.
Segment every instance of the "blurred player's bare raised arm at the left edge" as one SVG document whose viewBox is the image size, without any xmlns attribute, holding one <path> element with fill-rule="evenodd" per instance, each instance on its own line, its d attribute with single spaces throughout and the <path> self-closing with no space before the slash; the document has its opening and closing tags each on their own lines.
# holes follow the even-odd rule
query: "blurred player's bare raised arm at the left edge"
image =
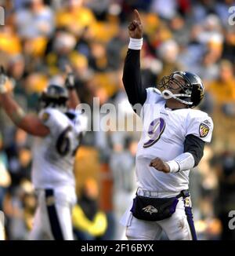
<svg viewBox="0 0 235 256">
<path fill-rule="evenodd" d="M 0 105 L 5 110 L 5 113 L 16 126 L 27 133 L 39 137 L 48 135 L 50 132 L 49 128 L 36 115 L 25 114 L 20 105 L 16 103 L 7 89 L 7 83 L 9 83 L 9 79 L 2 72 L 0 74 Z"/>
</svg>

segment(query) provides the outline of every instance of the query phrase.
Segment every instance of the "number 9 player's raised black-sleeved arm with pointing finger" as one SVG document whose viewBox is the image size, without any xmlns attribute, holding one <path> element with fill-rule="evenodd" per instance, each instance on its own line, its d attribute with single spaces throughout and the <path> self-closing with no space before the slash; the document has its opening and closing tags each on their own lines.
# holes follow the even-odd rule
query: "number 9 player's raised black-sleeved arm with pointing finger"
<svg viewBox="0 0 235 256">
<path fill-rule="evenodd" d="M 146 90 L 143 88 L 140 74 L 140 49 L 143 44 L 143 25 L 138 11 L 134 10 L 134 19 L 128 26 L 130 43 L 125 57 L 123 84 L 130 104 L 144 104 Z"/>
</svg>

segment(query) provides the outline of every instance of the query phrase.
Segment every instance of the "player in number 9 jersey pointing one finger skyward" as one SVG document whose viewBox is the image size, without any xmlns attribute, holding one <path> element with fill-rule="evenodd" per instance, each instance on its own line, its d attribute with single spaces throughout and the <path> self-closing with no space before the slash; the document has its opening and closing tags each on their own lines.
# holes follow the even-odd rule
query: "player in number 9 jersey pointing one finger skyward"
<svg viewBox="0 0 235 256">
<path fill-rule="evenodd" d="M 142 104 L 143 133 L 136 153 L 138 189 L 122 225 L 128 240 L 197 240 L 189 192 L 190 169 L 200 162 L 213 122 L 194 110 L 204 97 L 201 79 L 187 71 L 164 76 L 144 89 L 140 75 L 143 25 L 138 11 L 128 26 L 123 82 L 132 105 Z"/>
</svg>

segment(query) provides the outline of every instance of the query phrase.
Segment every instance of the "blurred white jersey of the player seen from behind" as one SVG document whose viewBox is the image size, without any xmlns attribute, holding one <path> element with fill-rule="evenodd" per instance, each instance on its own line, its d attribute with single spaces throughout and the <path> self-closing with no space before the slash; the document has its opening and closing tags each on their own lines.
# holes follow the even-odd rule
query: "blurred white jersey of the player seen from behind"
<svg viewBox="0 0 235 256">
<path fill-rule="evenodd" d="M 71 188 L 75 186 L 74 156 L 86 119 L 78 112 L 69 118 L 56 108 L 45 108 L 39 118 L 50 133 L 35 137 L 33 148 L 32 181 L 34 188 Z"/>
</svg>

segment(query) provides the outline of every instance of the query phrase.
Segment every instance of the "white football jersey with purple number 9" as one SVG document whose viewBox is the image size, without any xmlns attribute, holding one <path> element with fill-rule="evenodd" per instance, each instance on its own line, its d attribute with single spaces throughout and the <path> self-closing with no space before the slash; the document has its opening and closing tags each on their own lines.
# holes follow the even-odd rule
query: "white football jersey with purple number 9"
<svg viewBox="0 0 235 256">
<path fill-rule="evenodd" d="M 136 153 L 136 177 L 140 188 L 158 192 L 180 192 L 188 188 L 190 170 L 164 174 L 150 167 L 156 157 L 169 161 L 183 153 L 189 134 L 210 142 L 213 122 L 207 113 L 191 108 L 172 110 L 155 88 L 148 88 L 143 105 L 143 133 Z"/>
</svg>

